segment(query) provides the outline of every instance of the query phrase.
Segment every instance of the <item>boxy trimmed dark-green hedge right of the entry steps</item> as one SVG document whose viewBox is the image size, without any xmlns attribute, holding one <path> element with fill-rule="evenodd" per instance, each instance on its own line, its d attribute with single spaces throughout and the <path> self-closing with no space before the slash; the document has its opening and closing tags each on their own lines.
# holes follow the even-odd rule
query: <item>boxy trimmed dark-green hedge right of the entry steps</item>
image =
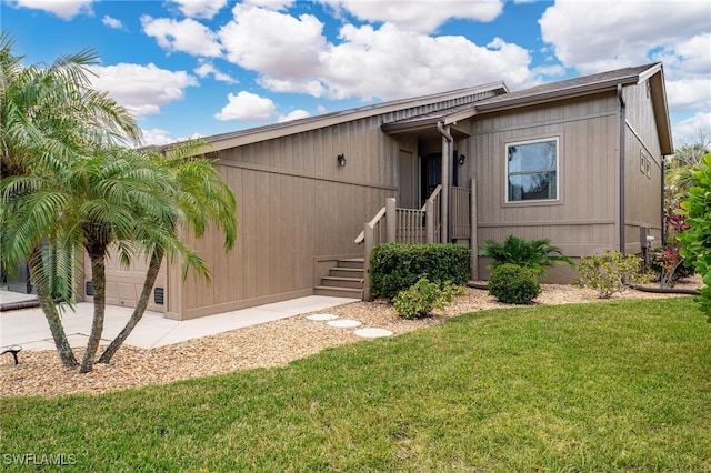
<svg viewBox="0 0 711 473">
<path fill-rule="evenodd" d="M 422 276 L 464 285 L 471 278 L 471 250 L 461 244 L 383 243 L 370 258 L 370 293 L 394 299 Z"/>
</svg>

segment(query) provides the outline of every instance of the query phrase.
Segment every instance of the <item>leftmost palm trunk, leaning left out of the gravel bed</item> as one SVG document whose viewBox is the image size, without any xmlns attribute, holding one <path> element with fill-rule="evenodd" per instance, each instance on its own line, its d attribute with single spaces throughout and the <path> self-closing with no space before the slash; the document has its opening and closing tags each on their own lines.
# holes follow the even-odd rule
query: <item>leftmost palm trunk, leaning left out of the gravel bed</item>
<svg viewBox="0 0 711 473">
<path fill-rule="evenodd" d="M 47 318 L 49 330 L 52 333 L 52 340 L 54 340 L 54 346 L 57 346 L 57 353 L 59 354 L 62 364 L 67 368 L 76 366 L 77 358 L 74 352 L 69 345 L 67 340 L 67 333 L 62 326 L 62 320 L 57 309 L 57 304 L 52 299 L 52 293 L 47 285 L 47 275 L 44 274 L 44 265 L 42 263 L 42 246 L 37 244 L 30 253 L 30 274 L 37 288 L 37 299 L 40 302 L 42 312 Z"/>
</svg>

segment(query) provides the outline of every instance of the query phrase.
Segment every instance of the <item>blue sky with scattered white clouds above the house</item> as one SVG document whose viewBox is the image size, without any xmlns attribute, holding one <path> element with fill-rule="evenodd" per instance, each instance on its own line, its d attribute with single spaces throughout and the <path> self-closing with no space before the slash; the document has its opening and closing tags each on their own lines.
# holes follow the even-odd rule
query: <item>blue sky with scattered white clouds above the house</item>
<svg viewBox="0 0 711 473">
<path fill-rule="evenodd" d="M 657 61 L 674 144 L 711 135 L 708 0 L 0 0 L 0 24 L 27 63 L 93 49 L 146 143 Z"/>
</svg>

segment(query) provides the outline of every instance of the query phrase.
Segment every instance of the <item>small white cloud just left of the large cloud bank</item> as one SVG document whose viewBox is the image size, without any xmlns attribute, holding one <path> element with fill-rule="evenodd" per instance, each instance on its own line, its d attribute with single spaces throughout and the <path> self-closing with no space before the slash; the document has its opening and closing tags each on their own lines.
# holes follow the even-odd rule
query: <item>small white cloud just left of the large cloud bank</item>
<svg viewBox="0 0 711 473">
<path fill-rule="evenodd" d="M 168 51 L 181 51 L 193 56 L 219 57 L 220 46 L 216 34 L 204 24 L 191 19 L 141 17 L 143 32 L 156 38 L 158 44 Z"/>
</svg>

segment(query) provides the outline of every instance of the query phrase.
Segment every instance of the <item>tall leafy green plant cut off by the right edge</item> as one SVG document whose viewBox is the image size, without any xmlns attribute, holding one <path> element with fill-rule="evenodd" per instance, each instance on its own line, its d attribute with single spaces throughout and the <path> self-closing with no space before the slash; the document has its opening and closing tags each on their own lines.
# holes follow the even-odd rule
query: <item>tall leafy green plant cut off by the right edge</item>
<svg viewBox="0 0 711 473">
<path fill-rule="evenodd" d="M 697 302 L 711 322 L 711 153 L 704 154 L 694 168 L 692 179 L 689 197 L 677 210 L 677 214 L 685 217 L 689 228 L 678 238 L 682 244 L 681 255 L 701 274 L 703 286 Z"/>
</svg>

